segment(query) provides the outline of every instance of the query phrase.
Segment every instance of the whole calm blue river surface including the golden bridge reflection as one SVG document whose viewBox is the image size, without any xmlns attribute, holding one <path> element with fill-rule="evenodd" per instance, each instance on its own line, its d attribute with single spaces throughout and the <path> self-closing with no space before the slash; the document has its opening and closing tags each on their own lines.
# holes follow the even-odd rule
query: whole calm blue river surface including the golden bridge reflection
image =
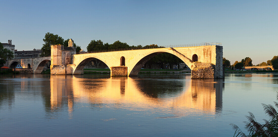
<svg viewBox="0 0 278 137">
<path fill-rule="evenodd" d="M 265 117 L 278 74 L 0 76 L 0 136 L 233 136 Z"/>
</svg>

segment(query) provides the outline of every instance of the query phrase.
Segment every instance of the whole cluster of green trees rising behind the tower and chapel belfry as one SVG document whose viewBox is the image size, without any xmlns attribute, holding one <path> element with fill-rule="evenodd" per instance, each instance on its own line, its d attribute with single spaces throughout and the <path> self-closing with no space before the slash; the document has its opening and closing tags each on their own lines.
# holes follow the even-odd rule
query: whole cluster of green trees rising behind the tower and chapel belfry
<svg viewBox="0 0 278 137">
<path fill-rule="evenodd" d="M 45 33 L 44 39 L 43 39 L 43 47 L 41 50 L 43 51 L 41 56 L 50 56 L 51 55 L 51 45 L 64 45 L 68 46 L 69 39 L 64 40 L 62 37 L 58 35 L 54 35 L 53 33 Z M 80 52 L 81 48 L 80 46 L 76 46 L 76 44 L 73 42 L 73 46 L 76 48 L 76 52 Z"/>
</svg>

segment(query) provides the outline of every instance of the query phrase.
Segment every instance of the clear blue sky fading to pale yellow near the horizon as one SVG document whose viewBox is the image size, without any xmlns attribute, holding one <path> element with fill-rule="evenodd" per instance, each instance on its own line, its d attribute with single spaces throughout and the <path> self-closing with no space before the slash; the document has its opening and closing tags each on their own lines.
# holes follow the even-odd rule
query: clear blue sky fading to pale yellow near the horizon
<svg viewBox="0 0 278 137">
<path fill-rule="evenodd" d="M 278 1 L 13 1 L 0 0 L 0 42 L 40 49 L 45 33 L 128 45 L 220 42 L 223 57 L 253 64 L 278 55 Z"/>
</svg>

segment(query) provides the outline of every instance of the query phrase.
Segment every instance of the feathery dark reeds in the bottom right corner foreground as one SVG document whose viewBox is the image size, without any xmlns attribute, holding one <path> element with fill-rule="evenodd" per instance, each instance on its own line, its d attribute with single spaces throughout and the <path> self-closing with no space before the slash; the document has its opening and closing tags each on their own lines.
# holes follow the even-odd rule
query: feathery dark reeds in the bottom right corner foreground
<svg viewBox="0 0 278 137">
<path fill-rule="evenodd" d="M 278 93 L 277 93 L 278 100 Z M 278 107 L 278 102 L 274 102 L 275 106 Z M 272 105 L 262 104 L 265 113 L 270 117 L 270 120 L 265 120 L 265 124 L 260 124 L 255 119 L 253 113 L 248 112 L 249 116 L 245 116 L 248 122 L 245 123 L 245 129 L 249 132 L 249 135 L 245 135 L 240 128 L 235 124 L 232 125 L 235 130 L 234 136 L 241 137 L 277 137 L 278 136 L 278 113 Z"/>
</svg>

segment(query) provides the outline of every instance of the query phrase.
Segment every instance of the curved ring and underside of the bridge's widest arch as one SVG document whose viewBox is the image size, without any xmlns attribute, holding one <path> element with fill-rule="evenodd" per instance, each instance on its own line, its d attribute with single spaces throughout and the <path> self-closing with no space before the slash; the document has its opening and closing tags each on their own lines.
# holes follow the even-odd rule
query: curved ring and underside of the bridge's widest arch
<svg viewBox="0 0 278 137">
<path fill-rule="evenodd" d="M 157 50 L 161 50 L 161 51 L 157 51 Z M 148 60 L 150 60 L 152 57 L 159 55 L 161 53 L 170 53 L 170 54 L 175 55 L 178 58 L 180 58 L 187 66 L 191 66 L 191 65 L 195 66 L 194 63 L 192 63 L 190 59 L 186 58 L 181 53 L 176 52 L 176 50 L 169 50 L 169 49 L 157 49 L 157 50 L 153 51 L 151 53 L 148 53 L 148 55 L 144 56 L 139 61 L 137 61 L 137 63 L 133 67 L 131 67 L 132 69 L 131 69 L 130 73 L 128 74 L 128 76 L 137 76 L 140 69 L 143 67 L 143 65 Z M 192 68 L 190 68 L 190 69 L 192 69 Z"/>
</svg>

